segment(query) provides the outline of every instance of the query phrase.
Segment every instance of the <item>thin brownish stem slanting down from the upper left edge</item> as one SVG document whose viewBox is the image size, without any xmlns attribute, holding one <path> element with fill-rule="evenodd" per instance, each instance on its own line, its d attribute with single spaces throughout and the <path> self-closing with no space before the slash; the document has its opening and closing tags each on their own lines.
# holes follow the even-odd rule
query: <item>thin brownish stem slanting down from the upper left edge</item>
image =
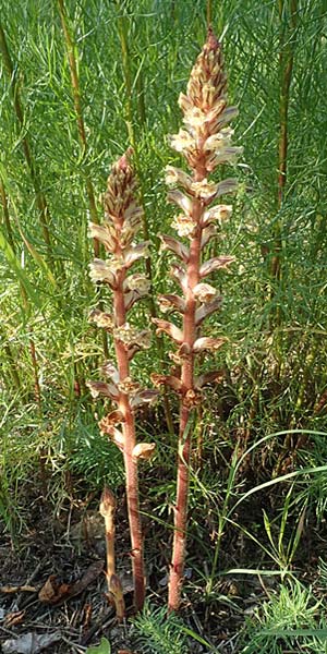
<svg viewBox="0 0 327 654">
<path fill-rule="evenodd" d="M 25 119 L 24 119 L 23 107 L 21 105 L 21 99 L 20 99 L 20 90 L 19 90 L 19 86 L 17 86 L 16 72 L 14 71 L 14 68 L 12 64 L 12 60 L 11 60 L 8 44 L 7 44 L 5 34 L 3 32 L 1 24 L 0 24 L 0 51 L 1 51 L 1 55 L 2 55 L 2 58 L 4 61 L 4 68 L 7 69 L 7 72 L 10 77 L 10 82 L 11 82 L 11 92 L 12 92 L 12 96 L 13 96 L 15 114 L 16 114 L 19 123 L 22 128 L 22 131 L 24 132 L 25 129 L 23 130 L 23 128 L 24 128 Z M 46 247 L 47 247 L 48 259 L 51 264 L 53 264 L 53 253 L 52 253 L 51 238 L 50 238 L 50 232 L 49 232 L 50 211 L 49 211 L 49 207 L 48 207 L 48 204 L 46 201 L 46 196 L 45 196 L 44 192 L 41 191 L 39 171 L 36 167 L 36 164 L 35 164 L 32 150 L 31 150 L 31 146 L 29 146 L 29 141 L 28 141 L 26 134 L 22 137 L 22 145 L 23 145 L 24 156 L 25 156 L 25 160 L 26 160 L 27 168 L 29 171 L 32 184 L 33 184 L 34 191 L 35 191 L 35 199 L 36 199 L 37 208 L 39 210 L 40 227 L 43 230 L 43 235 L 44 235 Z"/>
</svg>

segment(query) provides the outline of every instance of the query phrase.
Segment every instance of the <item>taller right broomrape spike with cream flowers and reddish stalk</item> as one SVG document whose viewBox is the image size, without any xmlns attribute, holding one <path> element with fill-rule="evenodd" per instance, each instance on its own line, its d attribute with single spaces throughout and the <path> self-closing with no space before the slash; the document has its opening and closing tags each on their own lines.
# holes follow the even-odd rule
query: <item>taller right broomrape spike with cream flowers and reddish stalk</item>
<svg viewBox="0 0 327 654">
<path fill-rule="evenodd" d="M 206 351 L 215 352 L 223 338 L 202 336 L 201 327 L 207 316 L 220 306 L 221 298 L 216 289 L 205 282 L 214 271 L 226 269 L 233 257 L 221 255 L 204 261 L 204 251 L 215 238 L 217 222 L 231 214 L 231 206 L 211 203 L 219 196 L 233 193 L 237 180 L 227 179 L 219 183 L 208 181 L 208 173 L 219 164 L 234 164 L 240 147 L 231 146 L 232 130 L 228 123 L 238 116 L 237 107 L 228 107 L 227 80 L 222 69 L 220 44 L 208 29 L 207 40 L 191 72 L 187 94 L 181 94 L 179 105 L 183 111 L 184 128 L 170 137 L 170 145 L 181 153 L 191 174 L 184 170 L 167 167 L 167 183 L 175 186 L 168 194 L 180 214 L 173 227 L 180 237 L 189 239 L 189 245 L 168 235 L 162 235 L 162 247 L 179 257 L 171 274 L 182 290 L 182 296 L 161 295 L 164 311 L 181 314 L 181 327 L 155 319 L 158 332 L 166 332 L 178 346 L 171 359 L 178 373 L 169 376 L 153 375 L 155 384 L 169 385 L 180 397 L 180 432 L 178 448 L 178 482 L 174 506 L 174 535 L 169 578 L 168 606 L 178 610 L 186 547 L 189 476 L 193 413 L 202 402 L 202 387 L 218 382 L 221 372 L 198 374 L 196 356 Z"/>
</svg>

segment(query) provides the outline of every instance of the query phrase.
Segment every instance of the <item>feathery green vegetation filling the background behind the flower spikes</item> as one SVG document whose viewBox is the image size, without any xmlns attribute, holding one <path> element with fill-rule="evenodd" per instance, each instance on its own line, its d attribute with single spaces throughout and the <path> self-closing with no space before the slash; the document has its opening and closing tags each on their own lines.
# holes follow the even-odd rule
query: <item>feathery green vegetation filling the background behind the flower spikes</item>
<svg viewBox="0 0 327 654">
<path fill-rule="evenodd" d="M 85 388 L 104 359 L 101 335 L 87 316 L 100 295 L 106 302 L 87 275 L 87 220 L 100 220 L 110 164 L 132 144 L 152 241 L 148 272 L 155 294 L 167 289 L 158 233 L 170 233 L 172 209 L 162 170 L 178 158 L 166 136 L 180 124 L 178 96 L 210 14 L 222 38 L 230 100 L 240 107 L 234 142 L 244 155 L 233 216 L 217 242 L 217 252 L 233 254 L 237 264 L 217 277 L 225 301 L 211 327 L 228 341 L 217 354 L 223 380 L 208 388 L 195 429 L 193 571 L 185 592 L 211 633 L 210 614 L 225 602 L 238 615 L 238 597 L 249 600 L 256 571 L 264 571 L 271 582 L 263 582 L 266 604 L 245 627 L 242 605 L 242 620 L 231 629 L 241 631 L 238 651 L 284 652 L 300 638 L 305 651 L 325 652 L 326 3 L 66 0 L 64 7 L 55 0 L 2 2 L 3 529 L 19 542 L 28 520 L 26 495 L 37 487 L 53 510 L 70 494 L 99 496 L 105 481 L 119 489 L 120 455 L 100 437 L 95 411 L 100 415 L 102 407 Z M 150 311 L 152 302 L 144 304 L 135 320 L 147 324 Z M 141 379 L 165 367 L 167 348 L 162 342 L 138 358 Z M 173 398 L 171 411 L 174 421 Z M 140 429 L 143 439 L 156 438 L 158 449 L 144 468 L 144 511 L 153 512 L 154 541 L 166 534 L 168 543 L 174 438 L 164 402 L 144 415 Z M 167 560 L 169 545 L 160 556 Z M 302 585 L 304 573 L 313 586 Z M 293 632 L 286 639 L 274 632 L 267 650 L 267 629 L 284 628 L 282 611 L 289 615 L 286 607 L 300 601 L 303 611 L 287 622 Z M 148 619 L 146 614 L 145 633 Z M 206 651 L 209 644 L 198 646 Z"/>
</svg>

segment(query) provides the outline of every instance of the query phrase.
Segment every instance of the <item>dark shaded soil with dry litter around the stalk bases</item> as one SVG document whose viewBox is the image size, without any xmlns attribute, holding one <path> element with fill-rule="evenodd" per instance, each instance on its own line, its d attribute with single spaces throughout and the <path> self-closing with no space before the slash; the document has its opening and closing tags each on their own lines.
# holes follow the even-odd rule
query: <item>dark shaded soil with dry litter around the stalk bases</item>
<svg viewBox="0 0 327 654">
<path fill-rule="evenodd" d="M 74 481 L 70 480 L 69 485 L 72 491 Z M 128 620 L 118 625 L 106 594 L 106 547 L 102 518 L 98 513 L 99 497 L 94 494 L 82 501 L 77 495 L 66 493 L 55 502 L 50 498 L 51 489 L 47 499 L 44 499 L 39 486 L 38 480 L 31 480 L 21 493 L 21 498 L 24 497 L 20 507 L 22 525 L 14 543 L 4 523 L 0 522 L 0 651 L 1 644 L 3 646 L 9 639 L 35 633 L 43 637 L 55 634 L 55 641 L 41 650 L 46 654 L 82 654 L 88 645 L 98 644 L 102 635 L 110 641 L 112 654 L 141 653 L 133 620 L 129 619 L 133 617 L 133 597 L 124 489 L 117 492 L 120 499 L 116 520 L 116 550 Z M 251 526 L 253 533 L 256 521 L 259 523 L 261 520 L 262 523 L 265 504 L 271 514 L 271 507 L 276 504 L 274 492 L 262 495 L 259 505 L 252 499 L 243 507 L 241 519 L 244 529 Z M 171 531 L 165 526 L 165 520 L 162 524 L 152 520 L 150 504 L 144 498 L 143 509 L 146 513 L 147 597 L 153 605 L 164 606 Z M 214 547 L 215 530 L 209 511 L 205 518 L 203 514 L 198 518 L 197 521 L 195 509 L 192 513 L 181 616 L 192 631 L 203 635 L 218 652 L 229 654 L 237 652 L 235 639 L 242 630 L 245 616 L 267 600 L 279 578 L 261 578 L 256 574 L 221 577 L 215 593 L 206 597 L 202 573 L 206 574 L 211 565 L 208 552 Z M 235 514 L 234 519 L 240 520 L 240 514 Z M 310 522 L 310 516 L 307 520 Z M 197 524 L 201 524 L 198 530 Z M 325 536 L 326 524 L 322 524 L 319 530 L 306 524 L 293 561 L 293 567 L 298 567 L 300 578 L 304 578 L 306 583 L 315 582 L 319 556 L 327 559 Z M 220 566 L 221 569 L 272 567 L 271 560 L 265 560 L 251 538 L 231 528 L 226 530 L 223 536 Z M 46 592 L 45 584 L 48 584 Z M 47 595 L 49 584 L 50 594 Z M 22 590 L 20 586 L 28 588 Z M 5 647 L 2 652 L 7 652 Z M 207 649 L 191 639 L 192 652 L 207 654 Z"/>
</svg>

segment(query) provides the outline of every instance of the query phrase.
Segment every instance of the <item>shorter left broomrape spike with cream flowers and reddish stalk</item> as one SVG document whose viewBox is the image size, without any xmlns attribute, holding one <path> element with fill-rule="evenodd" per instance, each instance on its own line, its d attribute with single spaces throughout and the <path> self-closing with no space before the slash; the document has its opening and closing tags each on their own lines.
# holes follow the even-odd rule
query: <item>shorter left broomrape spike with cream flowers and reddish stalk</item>
<svg viewBox="0 0 327 654">
<path fill-rule="evenodd" d="M 145 275 L 130 275 L 133 264 L 148 256 L 148 243 L 135 243 L 134 238 L 142 226 L 142 207 L 136 198 L 136 182 L 130 162 L 131 152 L 112 166 L 104 195 L 105 221 L 89 226 L 90 237 L 105 246 L 108 257 L 96 258 L 90 264 L 90 277 L 95 282 L 106 283 L 112 291 L 110 313 L 95 310 L 90 319 L 112 336 L 116 364 L 107 362 L 104 374 L 108 383 L 89 382 L 93 397 L 99 393 L 110 398 L 117 405 L 100 422 L 102 433 L 108 434 L 122 451 L 126 480 L 126 499 L 132 543 L 134 605 L 140 610 L 144 604 L 145 579 L 143 538 L 138 506 L 138 459 L 148 459 L 155 449 L 153 443 L 136 444 L 135 411 L 157 397 L 156 390 L 141 389 L 132 380 L 130 362 L 134 354 L 149 348 L 150 332 L 140 330 L 128 322 L 131 307 L 146 296 L 149 281 Z M 118 426 L 120 425 L 120 427 Z"/>
</svg>

